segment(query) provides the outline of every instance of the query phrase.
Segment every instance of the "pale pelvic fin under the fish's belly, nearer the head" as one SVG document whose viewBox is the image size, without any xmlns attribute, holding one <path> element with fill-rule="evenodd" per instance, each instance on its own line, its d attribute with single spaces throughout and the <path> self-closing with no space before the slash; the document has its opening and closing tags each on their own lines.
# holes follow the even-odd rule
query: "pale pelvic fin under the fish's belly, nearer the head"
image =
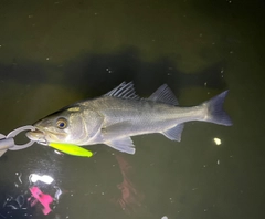
<svg viewBox="0 0 265 219">
<path fill-rule="evenodd" d="M 130 137 L 113 139 L 105 143 L 109 147 L 130 155 L 135 154 L 135 145 Z"/>
</svg>

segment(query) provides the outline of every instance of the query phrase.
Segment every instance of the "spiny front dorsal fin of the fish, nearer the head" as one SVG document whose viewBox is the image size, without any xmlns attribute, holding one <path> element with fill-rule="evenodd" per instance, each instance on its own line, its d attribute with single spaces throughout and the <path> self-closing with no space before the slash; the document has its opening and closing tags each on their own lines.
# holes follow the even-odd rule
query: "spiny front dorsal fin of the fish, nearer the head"
<svg viewBox="0 0 265 219">
<path fill-rule="evenodd" d="M 123 82 L 117 87 L 106 93 L 104 96 L 115 96 L 119 98 L 134 98 L 139 100 L 140 97 L 136 94 L 134 83 Z"/>
</svg>

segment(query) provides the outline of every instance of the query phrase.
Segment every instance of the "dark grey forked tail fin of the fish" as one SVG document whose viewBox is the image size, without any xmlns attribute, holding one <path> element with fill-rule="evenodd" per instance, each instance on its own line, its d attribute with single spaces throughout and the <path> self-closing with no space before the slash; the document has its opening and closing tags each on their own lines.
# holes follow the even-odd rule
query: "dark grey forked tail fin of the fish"
<svg viewBox="0 0 265 219">
<path fill-rule="evenodd" d="M 215 123 L 220 125 L 231 126 L 232 121 L 223 109 L 223 103 L 229 91 L 225 91 L 208 102 L 204 102 L 208 107 L 208 116 L 205 122 Z"/>
</svg>

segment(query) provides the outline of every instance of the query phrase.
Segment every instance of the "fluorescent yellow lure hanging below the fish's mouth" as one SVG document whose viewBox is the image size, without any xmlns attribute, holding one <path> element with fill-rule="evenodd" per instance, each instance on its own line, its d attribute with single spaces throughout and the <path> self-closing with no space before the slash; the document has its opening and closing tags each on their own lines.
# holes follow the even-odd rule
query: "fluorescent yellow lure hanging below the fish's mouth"
<svg viewBox="0 0 265 219">
<path fill-rule="evenodd" d="M 50 143 L 49 146 L 68 155 L 92 157 L 93 153 L 88 149 L 72 144 Z"/>
</svg>

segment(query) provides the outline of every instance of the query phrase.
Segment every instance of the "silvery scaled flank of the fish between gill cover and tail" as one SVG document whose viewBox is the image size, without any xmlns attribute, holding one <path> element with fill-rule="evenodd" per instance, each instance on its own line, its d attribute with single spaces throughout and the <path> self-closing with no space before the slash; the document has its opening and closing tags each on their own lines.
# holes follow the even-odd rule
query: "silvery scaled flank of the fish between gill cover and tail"
<svg viewBox="0 0 265 219">
<path fill-rule="evenodd" d="M 176 126 L 190 119 L 203 119 L 203 107 L 176 107 L 172 105 L 156 103 L 147 100 L 121 100 L 104 97 L 87 103 L 93 109 L 104 117 L 103 128 L 110 125 L 128 122 L 134 135 L 149 132 L 160 133 L 163 129 Z M 87 124 L 89 125 L 89 124 Z M 126 125 L 126 123 L 125 123 Z M 132 133 L 130 133 L 130 136 Z"/>
</svg>

